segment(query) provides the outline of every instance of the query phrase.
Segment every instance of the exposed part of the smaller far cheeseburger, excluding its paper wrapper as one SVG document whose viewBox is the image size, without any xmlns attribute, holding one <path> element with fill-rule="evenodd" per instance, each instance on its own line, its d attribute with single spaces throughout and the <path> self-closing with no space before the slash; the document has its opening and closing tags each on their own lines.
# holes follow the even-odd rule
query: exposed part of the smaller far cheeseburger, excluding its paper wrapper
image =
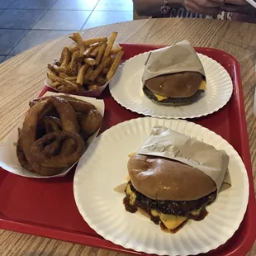
<svg viewBox="0 0 256 256">
<path fill-rule="evenodd" d="M 162 74 L 145 81 L 143 92 L 159 104 L 182 106 L 197 100 L 206 90 L 206 82 L 199 72 Z"/>
</svg>

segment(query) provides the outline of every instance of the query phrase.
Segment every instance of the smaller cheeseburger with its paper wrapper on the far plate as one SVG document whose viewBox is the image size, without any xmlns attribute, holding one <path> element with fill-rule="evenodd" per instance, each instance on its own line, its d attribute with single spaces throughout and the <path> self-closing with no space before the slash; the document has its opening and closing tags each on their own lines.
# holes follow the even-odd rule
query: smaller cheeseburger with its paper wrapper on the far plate
<svg viewBox="0 0 256 256">
<path fill-rule="evenodd" d="M 142 84 L 145 96 L 153 102 L 182 106 L 206 91 L 206 74 L 194 47 L 184 40 L 149 52 Z"/>
</svg>

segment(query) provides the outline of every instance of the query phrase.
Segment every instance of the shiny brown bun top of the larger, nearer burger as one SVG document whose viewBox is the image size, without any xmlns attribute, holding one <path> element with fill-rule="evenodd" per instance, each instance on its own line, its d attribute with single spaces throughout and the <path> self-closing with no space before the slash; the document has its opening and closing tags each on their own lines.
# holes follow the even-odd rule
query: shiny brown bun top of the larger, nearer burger
<svg viewBox="0 0 256 256">
<path fill-rule="evenodd" d="M 170 159 L 135 154 L 127 167 L 133 187 L 154 200 L 197 200 L 216 191 L 206 173 Z"/>
</svg>

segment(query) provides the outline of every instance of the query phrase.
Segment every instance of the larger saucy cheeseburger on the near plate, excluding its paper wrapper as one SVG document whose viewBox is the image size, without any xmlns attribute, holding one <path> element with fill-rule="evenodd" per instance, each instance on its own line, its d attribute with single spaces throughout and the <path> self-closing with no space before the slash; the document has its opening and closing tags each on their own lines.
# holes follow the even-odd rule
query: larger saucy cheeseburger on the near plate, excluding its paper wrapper
<svg viewBox="0 0 256 256">
<path fill-rule="evenodd" d="M 187 164 L 135 154 L 127 167 L 126 211 L 143 211 L 162 230 L 175 233 L 189 219 L 203 220 L 216 199 L 216 183 Z"/>
</svg>

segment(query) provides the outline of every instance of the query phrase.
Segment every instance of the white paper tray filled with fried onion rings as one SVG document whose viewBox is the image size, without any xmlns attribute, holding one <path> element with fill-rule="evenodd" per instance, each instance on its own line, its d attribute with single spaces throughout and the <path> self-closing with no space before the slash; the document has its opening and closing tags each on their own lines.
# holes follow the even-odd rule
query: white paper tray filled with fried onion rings
<svg viewBox="0 0 256 256">
<path fill-rule="evenodd" d="M 0 147 L 0 166 L 27 178 L 69 173 L 102 126 L 103 100 L 46 92 Z"/>
</svg>

